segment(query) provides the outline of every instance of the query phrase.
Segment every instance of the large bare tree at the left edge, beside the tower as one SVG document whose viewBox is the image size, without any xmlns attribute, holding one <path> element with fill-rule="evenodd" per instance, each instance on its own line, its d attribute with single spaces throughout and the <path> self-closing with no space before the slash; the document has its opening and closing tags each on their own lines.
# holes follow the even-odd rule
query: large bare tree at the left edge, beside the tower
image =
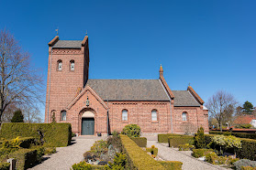
<svg viewBox="0 0 256 170">
<path fill-rule="evenodd" d="M 32 69 L 29 54 L 4 30 L 0 32 L 0 123 L 10 104 L 34 105 L 41 99 L 42 79 Z"/>
</svg>

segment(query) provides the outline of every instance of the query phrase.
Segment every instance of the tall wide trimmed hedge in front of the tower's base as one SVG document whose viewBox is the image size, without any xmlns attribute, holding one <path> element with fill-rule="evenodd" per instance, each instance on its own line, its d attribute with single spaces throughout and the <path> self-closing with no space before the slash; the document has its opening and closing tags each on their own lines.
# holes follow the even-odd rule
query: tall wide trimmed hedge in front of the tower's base
<svg viewBox="0 0 256 170">
<path fill-rule="evenodd" d="M 0 137 L 14 139 L 17 136 L 34 137 L 45 146 L 61 147 L 71 143 L 70 123 L 20 123 L 9 122 L 1 125 Z"/>
</svg>

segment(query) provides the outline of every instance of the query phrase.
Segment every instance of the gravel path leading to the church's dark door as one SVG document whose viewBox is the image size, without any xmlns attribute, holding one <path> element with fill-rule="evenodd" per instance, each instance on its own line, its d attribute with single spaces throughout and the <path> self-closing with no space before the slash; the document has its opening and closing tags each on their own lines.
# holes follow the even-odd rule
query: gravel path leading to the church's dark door
<svg viewBox="0 0 256 170">
<path fill-rule="evenodd" d="M 83 153 L 89 151 L 95 141 L 106 139 L 105 137 L 80 136 L 72 138 L 72 145 L 67 147 L 57 147 L 57 153 L 46 155 L 45 161 L 30 169 L 33 170 L 69 170 L 73 164 L 83 160 Z"/>
</svg>

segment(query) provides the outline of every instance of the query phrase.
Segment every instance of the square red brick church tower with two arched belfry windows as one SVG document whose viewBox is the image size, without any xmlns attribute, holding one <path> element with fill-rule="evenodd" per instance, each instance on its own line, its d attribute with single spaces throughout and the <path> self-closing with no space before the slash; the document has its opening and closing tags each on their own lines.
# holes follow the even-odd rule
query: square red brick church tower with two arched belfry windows
<svg viewBox="0 0 256 170">
<path fill-rule="evenodd" d="M 54 37 L 49 45 L 45 122 L 66 122 L 66 107 L 83 89 L 88 80 L 88 36 L 83 40 L 60 40 Z"/>
</svg>

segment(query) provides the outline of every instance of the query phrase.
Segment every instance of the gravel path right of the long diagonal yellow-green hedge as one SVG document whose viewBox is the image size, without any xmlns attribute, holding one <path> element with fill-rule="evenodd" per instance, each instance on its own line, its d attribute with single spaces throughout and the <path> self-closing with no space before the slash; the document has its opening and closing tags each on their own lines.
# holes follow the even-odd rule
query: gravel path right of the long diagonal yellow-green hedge
<svg viewBox="0 0 256 170">
<path fill-rule="evenodd" d="M 158 148 L 159 156 L 166 161 L 180 161 L 183 163 L 184 170 L 206 170 L 206 169 L 226 169 L 217 165 L 211 165 L 206 162 L 199 161 L 192 156 L 175 151 L 173 148 L 157 143 L 157 141 L 148 141 L 148 147 L 155 145 Z"/>
</svg>

